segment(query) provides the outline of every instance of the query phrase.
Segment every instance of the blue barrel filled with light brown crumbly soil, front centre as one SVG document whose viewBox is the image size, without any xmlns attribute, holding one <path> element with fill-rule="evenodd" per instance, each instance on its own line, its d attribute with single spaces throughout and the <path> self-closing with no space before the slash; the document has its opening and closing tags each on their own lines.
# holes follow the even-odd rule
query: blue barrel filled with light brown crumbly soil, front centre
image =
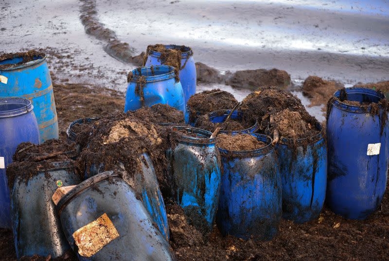
<svg viewBox="0 0 389 261">
<path fill-rule="evenodd" d="M 271 240 L 282 216 L 281 174 L 271 138 L 250 135 L 267 145 L 251 151 L 219 148 L 224 173 L 216 223 L 223 235 Z"/>
</svg>

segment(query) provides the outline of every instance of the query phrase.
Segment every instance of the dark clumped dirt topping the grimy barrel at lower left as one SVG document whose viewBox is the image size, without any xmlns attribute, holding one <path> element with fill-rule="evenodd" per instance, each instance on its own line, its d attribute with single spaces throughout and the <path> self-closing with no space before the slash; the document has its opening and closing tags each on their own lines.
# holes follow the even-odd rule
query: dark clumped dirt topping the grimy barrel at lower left
<svg viewBox="0 0 389 261">
<path fill-rule="evenodd" d="M 71 160 L 71 157 L 75 156 L 74 144 L 61 139 L 49 139 L 40 145 L 30 142 L 20 143 L 13 157 L 13 163 L 7 167 L 8 186 L 12 189 L 17 178 L 19 182 L 27 182 L 42 170 L 52 168 L 53 162 L 69 161 L 69 166 L 80 173 L 76 162 Z"/>
</svg>

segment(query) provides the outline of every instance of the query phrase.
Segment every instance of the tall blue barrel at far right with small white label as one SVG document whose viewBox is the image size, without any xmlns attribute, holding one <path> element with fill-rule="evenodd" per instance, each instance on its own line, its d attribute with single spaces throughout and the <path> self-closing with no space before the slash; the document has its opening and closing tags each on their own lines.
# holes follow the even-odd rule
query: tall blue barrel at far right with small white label
<svg viewBox="0 0 389 261">
<path fill-rule="evenodd" d="M 384 95 L 347 88 L 349 105 L 332 100 L 327 117 L 328 206 L 348 219 L 365 219 L 381 205 L 388 173 L 388 115 Z M 339 98 L 340 91 L 334 96 Z M 344 95 L 344 94 L 343 94 Z M 373 108 L 372 108 L 373 106 Z"/>
</svg>

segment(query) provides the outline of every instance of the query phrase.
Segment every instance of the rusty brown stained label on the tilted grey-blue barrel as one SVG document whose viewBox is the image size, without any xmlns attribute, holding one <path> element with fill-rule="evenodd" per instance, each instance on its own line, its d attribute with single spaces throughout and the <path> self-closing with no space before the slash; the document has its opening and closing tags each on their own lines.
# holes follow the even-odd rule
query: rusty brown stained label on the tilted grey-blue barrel
<svg viewBox="0 0 389 261">
<path fill-rule="evenodd" d="M 99 252 L 117 237 L 119 237 L 118 230 L 106 213 L 73 233 L 78 253 L 87 258 Z"/>
</svg>

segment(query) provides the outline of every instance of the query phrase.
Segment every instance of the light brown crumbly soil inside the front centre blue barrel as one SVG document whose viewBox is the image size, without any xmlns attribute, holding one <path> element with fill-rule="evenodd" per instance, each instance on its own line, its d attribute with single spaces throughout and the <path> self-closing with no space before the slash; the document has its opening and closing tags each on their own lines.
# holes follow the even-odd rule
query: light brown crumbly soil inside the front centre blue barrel
<svg viewBox="0 0 389 261">
<path fill-rule="evenodd" d="M 216 145 L 228 151 L 250 151 L 263 148 L 267 144 L 250 134 L 219 134 Z"/>
</svg>

